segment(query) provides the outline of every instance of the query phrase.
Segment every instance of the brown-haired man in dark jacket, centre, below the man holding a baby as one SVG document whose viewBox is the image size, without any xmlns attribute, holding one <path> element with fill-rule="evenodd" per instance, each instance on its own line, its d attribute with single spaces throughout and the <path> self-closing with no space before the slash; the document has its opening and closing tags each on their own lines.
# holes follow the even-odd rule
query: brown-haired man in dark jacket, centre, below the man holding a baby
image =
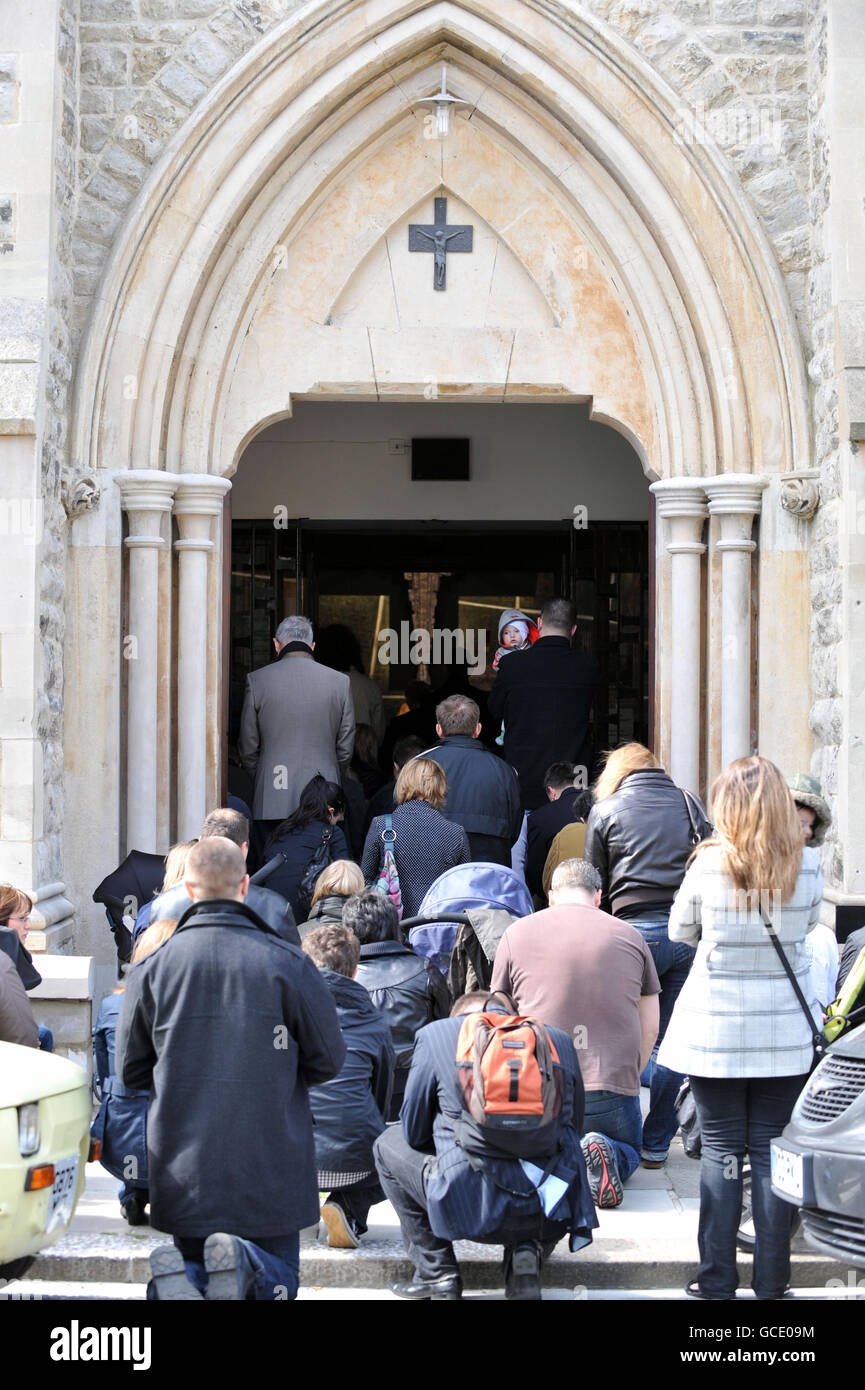
<svg viewBox="0 0 865 1390">
<path fill-rule="evenodd" d="M 448 778 L 442 816 L 469 835 L 471 859 L 510 867 L 520 833 L 520 784 L 513 767 L 480 742 L 481 713 L 467 695 L 449 695 L 435 710 L 441 742 L 428 748 Z"/>
</svg>

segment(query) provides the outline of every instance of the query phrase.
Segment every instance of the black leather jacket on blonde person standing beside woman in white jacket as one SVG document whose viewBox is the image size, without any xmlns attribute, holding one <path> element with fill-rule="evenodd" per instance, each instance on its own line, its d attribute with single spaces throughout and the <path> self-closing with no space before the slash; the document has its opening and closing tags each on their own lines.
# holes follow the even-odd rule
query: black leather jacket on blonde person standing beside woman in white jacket
<svg viewBox="0 0 865 1390">
<path fill-rule="evenodd" d="M 688 792 L 701 840 L 712 826 Z M 585 858 L 604 880 L 604 903 L 634 917 L 640 903 L 670 906 L 694 848 L 684 792 L 659 767 L 630 773 L 612 796 L 595 802 L 585 824 Z"/>
</svg>

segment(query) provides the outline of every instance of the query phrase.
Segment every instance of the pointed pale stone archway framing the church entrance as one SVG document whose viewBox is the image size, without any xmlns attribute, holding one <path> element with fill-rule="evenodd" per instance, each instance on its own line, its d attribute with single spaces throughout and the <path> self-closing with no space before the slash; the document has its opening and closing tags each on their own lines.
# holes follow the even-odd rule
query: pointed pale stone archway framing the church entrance
<svg viewBox="0 0 865 1390">
<path fill-rule="evenodd" d="M 442 60 L 469 103 L 451 146 L 424 140 L 413 104 Z M 323 0 L 191 117 L 115 245 L 76 385 L 75 461 L 118 484 L 103 486 L 100 521 L 76 523 L 81 612 L 100 591 L 120 595 L 121 499 L 129 521 L 136 848 L 189 834 L 216 794 L 221 656 L 196 614 L 220 610 L 213 560 L 236 460 L 298 392 L 421 399 L 432 379 L 503 402 L 572 396 L 627 435 L 662 518 L 658 746 L 686 785 L 752 745 L 757 514 L 761 670 L 804 685 L 804 523 L 777 503 L 779 480 L 809 464 L 797 332 L 737 179 L 680 132 L 673 92 L 630 47 L 579 7 L 551 14 L 541 0 L 505 13 L 491 0 Z M 442 321 L 382 321 L 382 247 L 439 192 L 484 228 L 522 299 L 492 322 L 477 321 L 477 296 L 449 297 Z M 398 278 L 391 295 L 399 310 Z M 88 548 L 88 566 L 75 563 Z M 179 632 L 165 621 L 175 587 Z M 108 692 L 99 737 L 114 749 L 122 637 L 118 599 L 89 649 Z M 70 642 L 70 670 L 82 670 L 86 634 L 72 626 Z M 72 682 L 72 727 L 82 702 Z M 762 699 L 758 720 L 763 751 L 805 760 L 802 712 Z"/>
</svg>

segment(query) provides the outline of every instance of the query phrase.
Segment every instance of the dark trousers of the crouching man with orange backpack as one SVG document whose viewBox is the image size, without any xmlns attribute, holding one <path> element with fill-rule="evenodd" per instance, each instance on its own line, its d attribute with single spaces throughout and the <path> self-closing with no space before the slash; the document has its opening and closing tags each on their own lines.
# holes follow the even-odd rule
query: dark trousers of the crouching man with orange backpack
<svg viewBox="0 0 865 1390">
<path fill-rule="evenodd" d="M 373 1154 L 381 1186 L 399 1216 L 402 1238 L 409 1250 L 416 1276 L 434 1280 L 458 1275 L 459 1264 L 453 1254 L 453 1245 L 449 1240 L 435 1236 L 430 1226 L 427 1177 L 430 1165 L 434 1162 L 432 1155 L 412 1148 L 405 1140 L 401 1125 L 388 1125 L 384 1134 L 375 1140 Z M 505 1279 L 508 1279 L 516 1247 L 528 1244 L 526 1237 L 509 1238 L 506 1230 L 502 1230 L 498 1238 L 485 1243 L 505 1247 Z M 555 1245 L 556 1240 L 540 1243 L 541 1257 L 547 1257 Z"/>
</svg>

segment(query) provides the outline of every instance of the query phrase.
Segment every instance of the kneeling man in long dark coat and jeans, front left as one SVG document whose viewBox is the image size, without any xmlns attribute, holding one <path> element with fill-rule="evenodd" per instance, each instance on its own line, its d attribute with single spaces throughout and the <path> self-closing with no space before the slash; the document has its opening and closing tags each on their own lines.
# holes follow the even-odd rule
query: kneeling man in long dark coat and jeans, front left
<svg viewBox="0 0 865 1390">
<path fill-rule="evenodd" d="M 337 1011 L 298 947 L 245 906 L 239 848 L 202 840 L 193 899 L 129 972 L 117 1072 L 150 1088 L 153 1298 L 295 1298 L 299 1232 L 318 1219 L 307 1086 L 345 1058 Z"/>
</svg>

